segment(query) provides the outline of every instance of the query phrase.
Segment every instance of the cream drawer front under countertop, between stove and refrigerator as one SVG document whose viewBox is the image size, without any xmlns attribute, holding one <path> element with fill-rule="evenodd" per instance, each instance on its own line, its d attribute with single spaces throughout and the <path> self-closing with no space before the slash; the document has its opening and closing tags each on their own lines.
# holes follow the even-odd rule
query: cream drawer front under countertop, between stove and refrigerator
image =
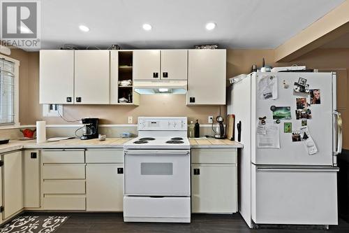
<svg viewBox="0 0 349 233">
<path fill-rule="evenodd" d="M 237 149 L 192 149 L 192 164 L 235 164 Z"/>
</svg>

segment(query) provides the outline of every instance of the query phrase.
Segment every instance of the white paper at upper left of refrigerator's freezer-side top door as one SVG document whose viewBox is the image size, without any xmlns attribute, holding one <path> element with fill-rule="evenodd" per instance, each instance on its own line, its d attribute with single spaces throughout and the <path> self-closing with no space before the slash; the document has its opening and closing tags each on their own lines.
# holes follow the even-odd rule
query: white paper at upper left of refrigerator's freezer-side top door
<svg viewBox="0 0 349 233">
<path fill-rule="evenodd" d="M 263 75 L 258 82 L 260 99 L 278 99 L 278 79 L 276 76 Z"/>
</svg>

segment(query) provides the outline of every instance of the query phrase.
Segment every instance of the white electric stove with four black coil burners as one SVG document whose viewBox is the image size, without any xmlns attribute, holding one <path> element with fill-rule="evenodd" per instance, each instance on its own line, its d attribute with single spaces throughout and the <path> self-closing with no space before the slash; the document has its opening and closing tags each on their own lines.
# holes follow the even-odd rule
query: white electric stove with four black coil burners
<svg viewBox="0 0 349 233">
<path fill-rule="evenodd" d="M 124 144 L 124 221 L 191 222 L 187 118 L 138 118 Z"/>
</svg>

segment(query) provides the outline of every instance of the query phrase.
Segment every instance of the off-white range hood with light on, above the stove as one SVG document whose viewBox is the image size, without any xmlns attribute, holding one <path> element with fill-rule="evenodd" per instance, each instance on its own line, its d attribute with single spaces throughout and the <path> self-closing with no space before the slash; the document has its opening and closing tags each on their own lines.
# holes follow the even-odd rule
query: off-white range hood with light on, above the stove
<svg viewBox="0 0 349 233">
<path fill-rule="evenodd" d="M 186 80 L 133 81 L 139 94 L 186 94 Z"/>
</svg>

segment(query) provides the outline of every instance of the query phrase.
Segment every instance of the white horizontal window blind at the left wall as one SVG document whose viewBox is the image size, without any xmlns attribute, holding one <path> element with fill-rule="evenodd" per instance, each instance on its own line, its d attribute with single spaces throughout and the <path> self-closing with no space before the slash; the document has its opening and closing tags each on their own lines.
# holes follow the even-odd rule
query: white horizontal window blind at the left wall
<svg viewBox="0 0 349 233">
<path fill-rule="evenodd" d="M 14 124 L 15 63 L 0 59 L 0 125 Z"/>
</svg>

